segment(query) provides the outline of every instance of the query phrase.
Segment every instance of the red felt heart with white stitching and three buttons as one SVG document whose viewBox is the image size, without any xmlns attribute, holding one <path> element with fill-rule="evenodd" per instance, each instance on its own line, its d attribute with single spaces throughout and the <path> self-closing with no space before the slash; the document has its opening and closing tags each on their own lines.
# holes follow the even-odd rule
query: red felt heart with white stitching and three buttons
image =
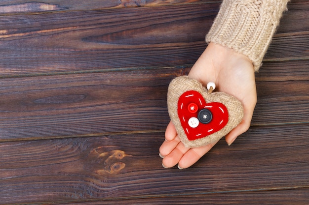
<svg viewBox="0 0 309 205">
<path fill-rule="evenodd" d="M 190 141 L 221 130 L 229 121 L 228 109 L 224 104 L 206 103 L 195 90 L 186 91 L 179 97 L 178 116 Z"/>
</svg>

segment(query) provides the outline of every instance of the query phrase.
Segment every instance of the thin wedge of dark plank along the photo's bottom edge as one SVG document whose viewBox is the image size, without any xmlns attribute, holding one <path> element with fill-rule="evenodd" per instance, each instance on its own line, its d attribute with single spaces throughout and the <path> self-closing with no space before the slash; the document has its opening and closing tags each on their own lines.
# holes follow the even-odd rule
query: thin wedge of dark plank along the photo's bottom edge
<svg viewBox="0 0 309 205">
<path fill-rule="evenodd" d="M 205 193 L 200 195 L 174 195 L 164 197 L 123 198 L 74 205 L 306 205 L 309 189 L 254 190 L 248 192 Z M 60 204 L 70 205 L 70 204 Z"/>
</svg>

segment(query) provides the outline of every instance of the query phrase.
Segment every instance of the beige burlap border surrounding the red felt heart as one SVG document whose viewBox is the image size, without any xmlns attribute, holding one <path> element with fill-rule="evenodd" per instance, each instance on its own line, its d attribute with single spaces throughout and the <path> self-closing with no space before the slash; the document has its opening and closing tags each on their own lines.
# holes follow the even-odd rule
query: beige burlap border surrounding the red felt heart
<svg viewBox="0 0 309 205">
<path fill-rule="evenodd" d="M 178 115 L 178 101 L 183 93 L 190 90 L 200 93 L 206 103 L 218 102 L 227 108 L 229 114 L 228 122 L 222 129 L 210 135 L 202 136 L 199 139 L 188 139 Z M 180 76 L 172 80 L 168 87 L 167 107 L 178 136 L 186 147 L 198 147 L 217 142 L 236 127 L 243 117 L 242 104 L 235 97 L 224 92 L 208 93 L 201 83 L 188 76 Z"/>
</svg>

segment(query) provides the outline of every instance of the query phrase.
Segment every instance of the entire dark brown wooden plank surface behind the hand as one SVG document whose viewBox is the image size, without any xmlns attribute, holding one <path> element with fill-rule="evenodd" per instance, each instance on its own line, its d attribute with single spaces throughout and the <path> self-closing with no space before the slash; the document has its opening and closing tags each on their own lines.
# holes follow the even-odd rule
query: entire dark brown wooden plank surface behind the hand
<svg viewBox="0 0 309 205">
<path fill-rule="evenodd" d="M 166 91 L 205 49 L 217 0 L 1 0 L 1 205 L 306 205 L 309 1 L 256 74 L 252 126 L 164 169 Z"/>
</svg>

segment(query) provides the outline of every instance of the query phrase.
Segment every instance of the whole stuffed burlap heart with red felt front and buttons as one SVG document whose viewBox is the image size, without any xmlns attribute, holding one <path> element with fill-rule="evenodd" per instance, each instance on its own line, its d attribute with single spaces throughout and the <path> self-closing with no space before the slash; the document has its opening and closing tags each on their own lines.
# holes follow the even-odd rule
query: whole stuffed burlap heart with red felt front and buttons
<svg viewBox="0 0 309 205">
<path fill-rule="evenodd" d="M 242 117 L 241 102 L 223 92 L 208 92 L 188 76 L 169 85 L 167 107 L 180 140 L 187 147 L 216 143 L 236 127 Z"/>
</svg>

